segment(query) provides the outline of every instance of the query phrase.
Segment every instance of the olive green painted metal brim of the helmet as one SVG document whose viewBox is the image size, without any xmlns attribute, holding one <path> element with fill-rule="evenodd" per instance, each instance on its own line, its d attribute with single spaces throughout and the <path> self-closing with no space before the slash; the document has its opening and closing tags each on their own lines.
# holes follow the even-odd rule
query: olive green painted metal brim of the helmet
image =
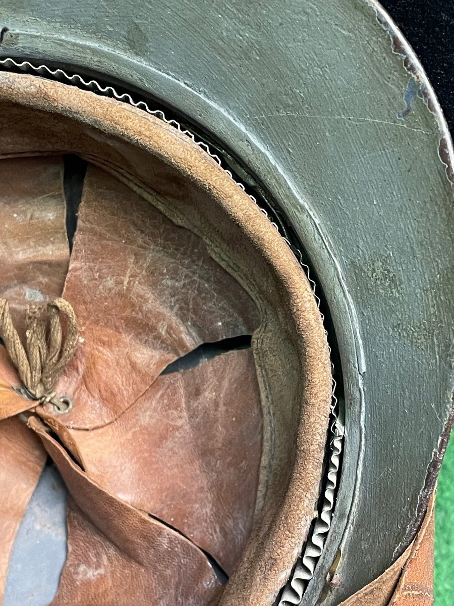
<svg viewBox="0 0 454 606">
<path fill-rule="evenodd" d="M 346 414 L 334 525 L 303 604 L 341 546 L 341 582 L 324 601 L 337 604 L 412 535 L 450 409 L 442 119 L 363 0 L 14 4 L 0 8 L 0 55 L 90 69 L 188 116 L 303 243 L 337 331 Z"/>
</svg>

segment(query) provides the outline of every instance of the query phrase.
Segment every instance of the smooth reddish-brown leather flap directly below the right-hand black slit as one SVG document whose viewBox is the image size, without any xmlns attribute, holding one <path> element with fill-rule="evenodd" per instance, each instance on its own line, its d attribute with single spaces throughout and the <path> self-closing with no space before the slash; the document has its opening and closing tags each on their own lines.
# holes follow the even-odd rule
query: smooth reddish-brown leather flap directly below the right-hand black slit
<svg viewBox="0 0 454 606">
<path fill-rule="evenodd" d="M 104 427 L 71 430 L 45 418 L 100 487 L 178 528 L 232 572 L 251 530 L 262 456 L 250 349 L 160 376 Z"/>
</svg>

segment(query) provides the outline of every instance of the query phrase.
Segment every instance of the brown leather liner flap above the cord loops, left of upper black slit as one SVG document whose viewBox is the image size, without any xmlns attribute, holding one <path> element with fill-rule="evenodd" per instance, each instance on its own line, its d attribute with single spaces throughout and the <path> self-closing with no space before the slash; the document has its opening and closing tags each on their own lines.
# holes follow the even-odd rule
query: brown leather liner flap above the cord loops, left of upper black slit
<svg viewBox="0 0 454 606">
<path fill-rule="evenodd" d="M 25 307 L 61 296 L 70 251 L 61 156 L 0 159 L 0 297 L 24 337 Z"/>
</svg>

